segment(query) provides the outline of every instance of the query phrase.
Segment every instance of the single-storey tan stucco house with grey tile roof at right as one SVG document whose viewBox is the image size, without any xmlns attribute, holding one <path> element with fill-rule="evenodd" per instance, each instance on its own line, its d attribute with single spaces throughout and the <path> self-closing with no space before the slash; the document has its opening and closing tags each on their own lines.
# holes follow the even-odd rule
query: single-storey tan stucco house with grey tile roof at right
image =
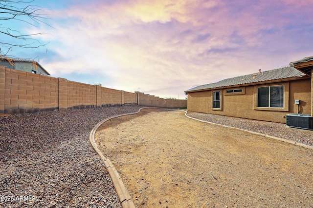
<svg viewBox="0 0 313 208">
<path fill-rule="evenodd" d="M 286 122 L 291 113 L 313 116 L 313 57 L 290 66 L 200 85 L 188 94 L 188 111 Z"/>
</svg>

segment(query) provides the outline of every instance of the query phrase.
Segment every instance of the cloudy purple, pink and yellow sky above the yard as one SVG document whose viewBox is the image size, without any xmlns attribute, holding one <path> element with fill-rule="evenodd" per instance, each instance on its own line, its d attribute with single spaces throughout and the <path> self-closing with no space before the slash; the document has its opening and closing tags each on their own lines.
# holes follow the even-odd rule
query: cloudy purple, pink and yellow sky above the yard
<svg viewBox="0 0 313 208">
<path fill-rule="evenodd" d="M 12 47 L 8 54 L 35 59 L 53 77 L 127 92 L 185 99 L 184 91 L 193 87 L 313 56 L 310 0 L 32 4 L 41 9 L 45 24 L 2 20 L 0 28 L 44 33 L 33 38 L 45 46 Z M 0 34 L 3 41 L 12 38 Z"/>
</svg>

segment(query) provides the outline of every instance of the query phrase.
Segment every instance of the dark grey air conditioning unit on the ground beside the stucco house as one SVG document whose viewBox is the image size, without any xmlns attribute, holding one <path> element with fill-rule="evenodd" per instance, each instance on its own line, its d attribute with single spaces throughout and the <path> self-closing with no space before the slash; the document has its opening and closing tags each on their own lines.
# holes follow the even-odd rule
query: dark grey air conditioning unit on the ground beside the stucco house
<svg viewBox="0 0 313 208">
<path fill-rule="evenodd" d="M 301 113 L 287 114 L 286 125 L 299 129 L 313 130 L 313 116 Z"/>
</svg>

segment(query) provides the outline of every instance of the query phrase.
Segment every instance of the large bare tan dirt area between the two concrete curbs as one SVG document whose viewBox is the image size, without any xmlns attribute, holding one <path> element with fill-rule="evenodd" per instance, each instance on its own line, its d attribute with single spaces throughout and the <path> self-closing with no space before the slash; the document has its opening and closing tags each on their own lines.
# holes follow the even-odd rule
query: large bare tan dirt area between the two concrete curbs
<svg viewBox="0 0 313 208">
<path fill-rule="evenodd" d="M 313 208 L 313 150 L 142 109 L 105 122 L 95 139 L 136 207 Z"/>
</svg>

